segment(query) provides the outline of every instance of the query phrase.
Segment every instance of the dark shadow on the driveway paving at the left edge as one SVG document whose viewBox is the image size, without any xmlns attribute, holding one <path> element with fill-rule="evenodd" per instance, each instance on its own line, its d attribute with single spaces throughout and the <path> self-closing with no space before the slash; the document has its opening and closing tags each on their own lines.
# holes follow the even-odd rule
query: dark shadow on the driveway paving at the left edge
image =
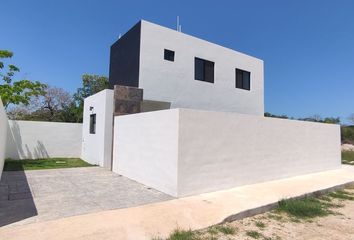
<svg viewBox="0 0 354 240">
<path fill-rule="evenodd" d="M 36 215 L 25 172 L 4 171 L 0 180 L 0 227 Z"/>
</svg>

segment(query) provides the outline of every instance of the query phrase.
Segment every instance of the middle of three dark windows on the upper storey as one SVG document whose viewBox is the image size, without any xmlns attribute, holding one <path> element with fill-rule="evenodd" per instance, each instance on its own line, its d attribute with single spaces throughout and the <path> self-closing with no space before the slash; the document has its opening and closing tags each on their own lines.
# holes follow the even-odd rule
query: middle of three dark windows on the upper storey
<svg viewBox="0 0 354 240">
<path fill-rule="evenodd" d="M 194 58 L 194 79 L 214 83 L 214 62 Z"/>
</svg>

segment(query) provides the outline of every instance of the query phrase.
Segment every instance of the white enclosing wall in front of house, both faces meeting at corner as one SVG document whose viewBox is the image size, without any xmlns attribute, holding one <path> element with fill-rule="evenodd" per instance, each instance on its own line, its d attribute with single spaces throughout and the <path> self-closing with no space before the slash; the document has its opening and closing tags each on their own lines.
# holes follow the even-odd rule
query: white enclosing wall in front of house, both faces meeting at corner
<svg viewBox="0 0 354 240">
<path fill-rule="evenodd" d="M 113 171 L 178 197 L 341 166 L 334 124 L 187 109 L 115 123 Z"/>
</svg>

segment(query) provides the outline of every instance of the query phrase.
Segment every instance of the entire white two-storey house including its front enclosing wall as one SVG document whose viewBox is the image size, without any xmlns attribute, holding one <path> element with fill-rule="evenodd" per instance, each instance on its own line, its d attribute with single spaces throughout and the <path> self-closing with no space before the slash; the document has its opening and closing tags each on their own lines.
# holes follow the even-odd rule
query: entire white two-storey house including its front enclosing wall
<svg viewBox="0 0 354 240">
<path fill-rule="evenodd" d="M 85 99 L 82 158 L 172 196 L 340 167 L 338 125 L 263 116 L 257 58 L 140 21 L 109 83 Z"/>
</svg>

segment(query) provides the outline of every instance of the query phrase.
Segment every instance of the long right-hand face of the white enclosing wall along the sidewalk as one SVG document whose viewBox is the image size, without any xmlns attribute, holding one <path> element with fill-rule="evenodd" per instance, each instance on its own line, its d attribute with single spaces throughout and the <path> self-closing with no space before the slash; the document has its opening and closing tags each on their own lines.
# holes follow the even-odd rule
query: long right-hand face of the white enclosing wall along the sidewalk
<svg viewBox="0 0 354 240">
<path fill-rule="evenodd" d="M 179 196 L 341 166 L 339 125 L 181 109 L 179 126 Z"/>
</svg>

